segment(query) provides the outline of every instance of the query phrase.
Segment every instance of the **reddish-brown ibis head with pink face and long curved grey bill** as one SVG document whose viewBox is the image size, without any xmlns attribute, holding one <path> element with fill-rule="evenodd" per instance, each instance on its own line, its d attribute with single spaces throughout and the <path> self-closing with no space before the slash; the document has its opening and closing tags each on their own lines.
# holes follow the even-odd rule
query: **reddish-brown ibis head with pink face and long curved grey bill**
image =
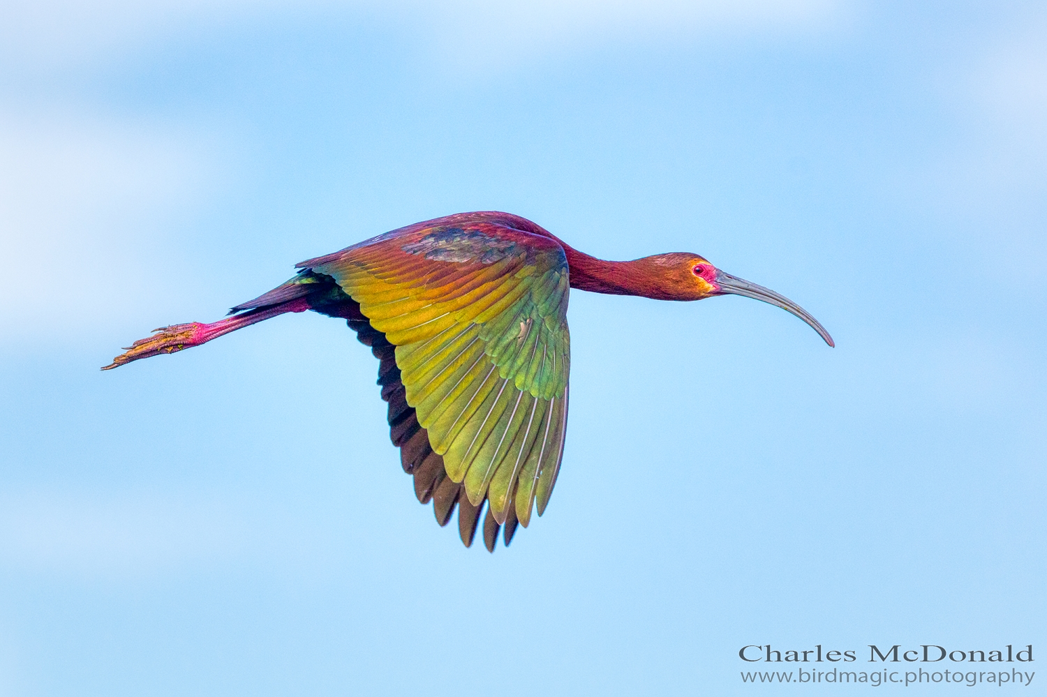
<svg viewBox="0 0 1047 697">
<path fill-rule="evenodd" d="M 825 328 L 810 313 L 784 295 L 757 286 L 744 278 L 733 276 L 720 271 L 709 260 L 691 252 L 671 252 L 654 254 L 638 262 L 646 263 L 646 275 L 654 282 L 650 286 L 648 297 L 665 300 L 701 300 L 715 295 L 743 295 L 792 312 L 794 315 L 810 324 L 830 346 L 836 344 Z"/>
</svg>

